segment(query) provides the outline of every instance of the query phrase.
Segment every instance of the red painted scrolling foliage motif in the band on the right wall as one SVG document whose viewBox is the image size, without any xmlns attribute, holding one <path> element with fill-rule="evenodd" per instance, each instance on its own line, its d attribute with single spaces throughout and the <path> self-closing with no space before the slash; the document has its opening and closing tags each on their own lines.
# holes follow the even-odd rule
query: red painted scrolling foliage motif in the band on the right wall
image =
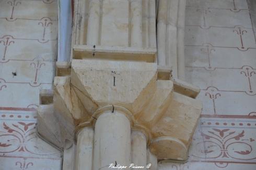
<svg viewBox="0 0 256 170">
<path fill-rule="evenodd" d="M 237 132 L 229 128 L 212 128 L 207 133 L 201 132 L 201 136 L 204 141 L 196 143 L 196 149 L 204 153 L 206 159 L 256 159 L 256 155 L 251 154 L 253 151 L 252 142 L 255 140 L 253 138 L 245 139 L 245 130 Z M 201 158 L 196 155 L 193 156 Z"/>
</svg>

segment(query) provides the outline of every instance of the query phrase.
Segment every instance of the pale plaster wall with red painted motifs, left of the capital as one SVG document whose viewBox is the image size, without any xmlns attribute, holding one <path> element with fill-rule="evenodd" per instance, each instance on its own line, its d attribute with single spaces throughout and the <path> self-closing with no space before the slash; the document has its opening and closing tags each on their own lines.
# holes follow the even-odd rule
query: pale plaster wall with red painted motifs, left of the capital
<svg viewBox="0 0 256 170">
<path fill-rule="evenodd" d="M 0 1 L 0 169 L 60 170 L 61 151 L 37 135 L 40 89 L 57 53 L 57 1 Z"/>
</svg>

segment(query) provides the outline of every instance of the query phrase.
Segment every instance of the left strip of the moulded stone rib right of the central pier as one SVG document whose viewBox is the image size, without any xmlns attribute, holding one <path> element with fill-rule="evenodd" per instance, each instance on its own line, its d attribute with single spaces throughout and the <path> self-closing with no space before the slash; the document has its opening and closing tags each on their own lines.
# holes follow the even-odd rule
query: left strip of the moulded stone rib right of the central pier
<svg viewBox="0 0 256 170">
<path fill-rule="evenodd" d="M 157 59 L 159 66 L 166 66 L 166 23 L 169 0 L 159 0 L 157 15 Z"/>
</svg>

